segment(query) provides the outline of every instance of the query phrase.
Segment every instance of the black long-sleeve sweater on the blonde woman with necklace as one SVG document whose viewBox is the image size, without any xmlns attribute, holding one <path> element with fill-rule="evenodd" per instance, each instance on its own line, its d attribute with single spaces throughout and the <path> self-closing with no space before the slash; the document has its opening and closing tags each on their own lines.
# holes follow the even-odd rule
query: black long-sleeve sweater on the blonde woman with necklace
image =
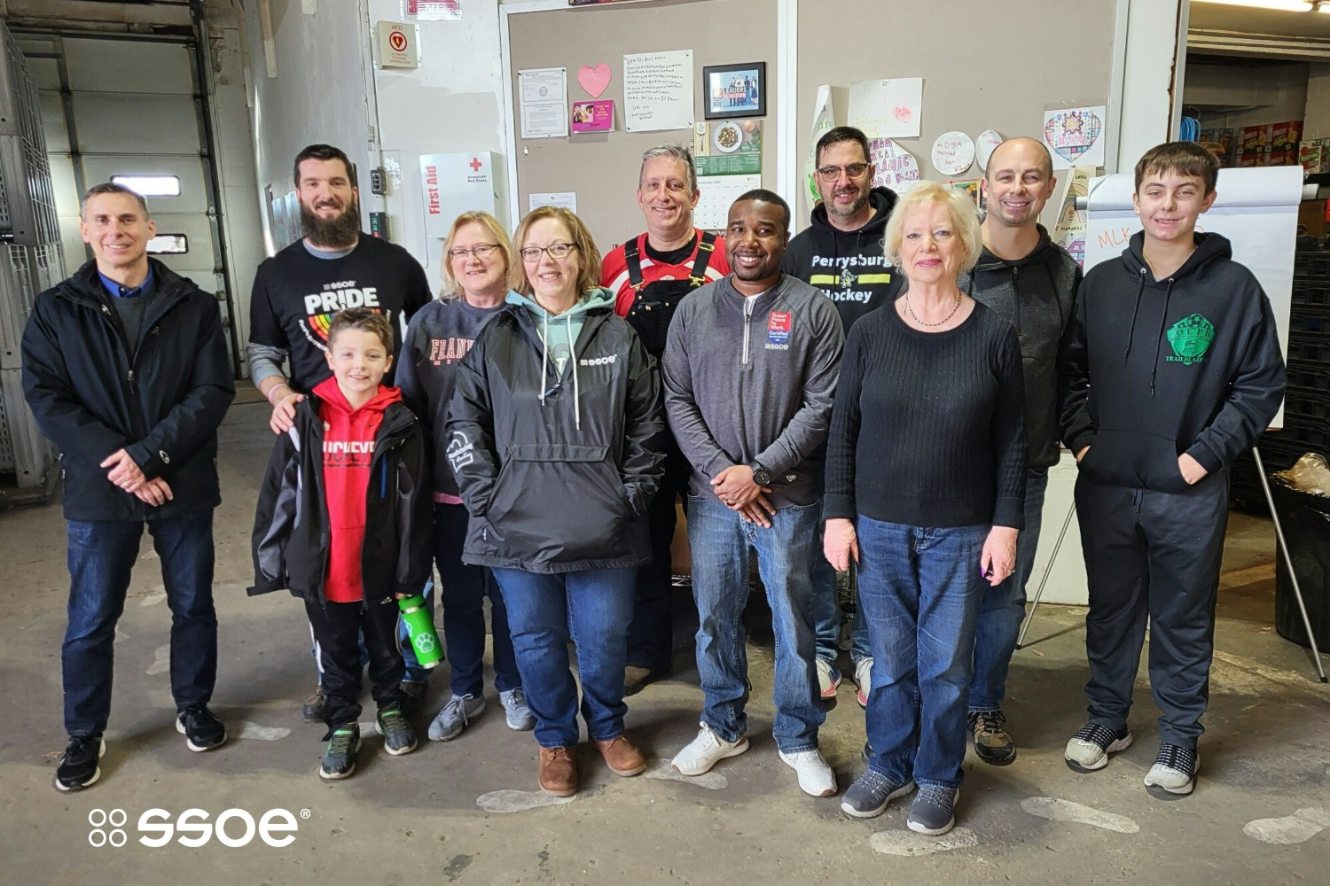
<svg viewBox="0 0 1330 886">
<path fill-rule="evenodd" d="M 1024 527 L 1020 347 L 975 304 L 956 328 L 922 332 L 895 308 L 850 329 L 827 440 L 827 518 L 907 526 Z"/>
</svg>

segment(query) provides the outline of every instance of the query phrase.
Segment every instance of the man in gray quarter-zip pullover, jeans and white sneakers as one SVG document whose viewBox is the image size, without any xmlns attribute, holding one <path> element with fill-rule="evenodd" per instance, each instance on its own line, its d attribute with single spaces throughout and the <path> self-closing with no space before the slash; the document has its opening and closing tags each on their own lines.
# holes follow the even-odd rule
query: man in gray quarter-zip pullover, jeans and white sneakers
<svg viewBox="0 0 1330 886">
<path fill-rule="evenodd" d="M 688 541 L 701 615 L 702 729 L 674 757 L 686 776 L 747 751 L 742 614 L 750 549 L 775 631 L 777 748 L 814 797 L 835 793 L 818 751 L 813 558 L 822 444 L 845 333 L 821 291 L 781 272 L 790 207 L 767 190 L 734 202 L 725 234 L 733 272 L 680 303 L 662 359 L 665 410 L 693 466 Z"/>
</svg>

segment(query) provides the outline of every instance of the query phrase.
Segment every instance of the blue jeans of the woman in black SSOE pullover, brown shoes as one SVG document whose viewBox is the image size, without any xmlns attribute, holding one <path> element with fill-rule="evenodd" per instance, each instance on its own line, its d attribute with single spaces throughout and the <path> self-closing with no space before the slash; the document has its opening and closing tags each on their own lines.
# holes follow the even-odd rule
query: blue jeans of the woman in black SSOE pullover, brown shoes
<svg viewBox="0 0 1330 886">
<path fill-rule="evenodd" d="M 541 748 L 577 744 L 577 683 L 568 669 L 569 636 L 577 647 L 581 715 L 593 741 L 624 732 L 624 667 L 633 619 L 637 567 L 580 573 L 493 570 L 508 603 L 527 704 Z"/>
</svg>

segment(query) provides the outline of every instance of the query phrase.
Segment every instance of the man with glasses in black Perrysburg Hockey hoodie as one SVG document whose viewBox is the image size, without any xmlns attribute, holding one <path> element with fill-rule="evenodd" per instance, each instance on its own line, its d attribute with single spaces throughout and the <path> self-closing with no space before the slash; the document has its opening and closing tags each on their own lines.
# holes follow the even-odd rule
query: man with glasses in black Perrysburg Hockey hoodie
<svg viewBox="0 0 1330 886">
<path fill-rule="evenodd" d="M 854 126 L 827 130 L 818 139 L 815 157 L 822 202 L 813 207 L 811 224 L 790 240 L 781 270 L 821 288 L 835 304 L 849 335 L 855 320 L 891 304 L 900 292 L 900 276 L 882 252 L 882 235 L 896 195 L 887 187 L 872 186 L 876 170 L 868 162 L 868 138 Z M 818 691 L 829 699 L 841 684 L 835 665 L 841 654 L 841 604 L 835 571 L 823 557 L 817 558 L 813 569 L 813 587 Z M 859 687 L 859 707 L 866 707 L 872 655 L 862 618 L 850 632 L 850 660 Z"/>
</svg>

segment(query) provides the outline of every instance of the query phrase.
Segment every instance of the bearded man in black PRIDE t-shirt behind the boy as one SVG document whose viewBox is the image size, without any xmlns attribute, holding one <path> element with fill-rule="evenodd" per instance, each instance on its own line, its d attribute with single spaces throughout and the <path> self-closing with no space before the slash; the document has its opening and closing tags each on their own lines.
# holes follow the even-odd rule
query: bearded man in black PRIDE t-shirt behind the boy
<svg viewBox="0 0 1330 886">
<path fill-rule="evenodd" d="M 342 150 L 310 145 L 297 154 L 295 190 L 305 236 L 258 266 L 246 349 L 250 379 L 273 405 L 269 426 L 278 434 L 291 429 L 305 393 L 332 376 L 325 355 L 334 313 L 371 308 L 398 329 L 394 339 L 400 343 L 406 320 L 432 298 L 424 270 L 410 252 L 362 235 L 355 170 Z M 290 373 L 282 371 L 283 363 Z M 391 383 L 386 376 L 384 384 Z M 408 656 L 411 685 L 404 688 L 415 701 L 428 672 L 412 663 Z M 323 719 L 322 684 L 302 713 L 311 723 Z"/>
</svg>

